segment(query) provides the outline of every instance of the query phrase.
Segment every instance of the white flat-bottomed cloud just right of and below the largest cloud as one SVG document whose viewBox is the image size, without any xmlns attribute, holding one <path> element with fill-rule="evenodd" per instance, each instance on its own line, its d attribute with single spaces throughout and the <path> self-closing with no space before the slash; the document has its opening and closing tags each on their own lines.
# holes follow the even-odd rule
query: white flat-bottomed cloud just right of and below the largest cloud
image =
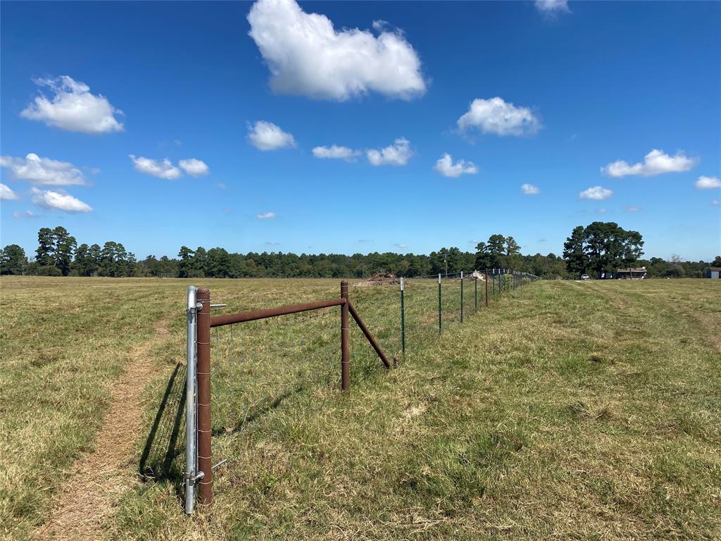
<svg viewBox="0 0 721 541">
<path fill-rule="evenodd" d="M 458 119 L 461 131 L 478 128 L 482 133 L 500 136 L 533 135 L 541 129 L 541 121 L 528 107 L 516 107 L 500 97 L 490 100 L 477 98 L 468 112 Z"/>
</svg>

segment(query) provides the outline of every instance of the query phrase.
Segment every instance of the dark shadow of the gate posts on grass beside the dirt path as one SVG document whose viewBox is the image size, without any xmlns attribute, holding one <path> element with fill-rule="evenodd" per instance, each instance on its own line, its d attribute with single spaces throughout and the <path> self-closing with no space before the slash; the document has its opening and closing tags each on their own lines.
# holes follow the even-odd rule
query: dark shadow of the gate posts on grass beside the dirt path
<svg viewBox="0 0 721 541">
<path fill-rule="evenodd" d="M 182 467 L 176 458 L 185 452 L 185 441 L 178 447 L 185 418 L 185 365 L 175 365 L 143 447 L 138 472 L 146 481 L 173 483 L 182 493 Z"/>
</svg>

